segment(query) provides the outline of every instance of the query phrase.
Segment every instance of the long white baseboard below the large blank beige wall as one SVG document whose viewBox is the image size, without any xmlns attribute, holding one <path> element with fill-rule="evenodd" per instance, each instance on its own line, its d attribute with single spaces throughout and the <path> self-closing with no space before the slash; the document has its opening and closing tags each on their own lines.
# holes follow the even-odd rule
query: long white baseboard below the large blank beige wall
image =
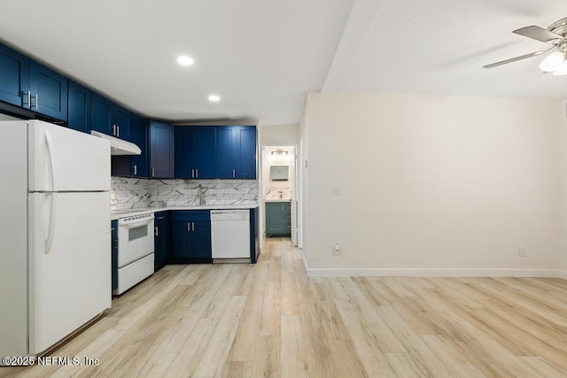
<svg viewBox="0 0 567 378">
<path fill-rule="evenodd" d="M 567 272 L 559 269 L 309 268 L 305 256 L 303 261 L 309 277 L 555 277 L 567 280 Z"/>
</svg>

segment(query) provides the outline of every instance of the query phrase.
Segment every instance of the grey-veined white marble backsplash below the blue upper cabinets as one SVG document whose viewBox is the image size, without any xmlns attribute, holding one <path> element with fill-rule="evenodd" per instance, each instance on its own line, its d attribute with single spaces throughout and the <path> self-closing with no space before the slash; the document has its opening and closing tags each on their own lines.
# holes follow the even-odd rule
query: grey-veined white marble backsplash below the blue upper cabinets
<svg viewBox="0 0 567 378">
<path fill-rule="evenodd" d="M 152 206 L 198 205 L 201 186 L 205 204 L 257 204 L 255 180 L 154 180 L 127 177 L 111 178 L 113 209 Z"/>
</svg>

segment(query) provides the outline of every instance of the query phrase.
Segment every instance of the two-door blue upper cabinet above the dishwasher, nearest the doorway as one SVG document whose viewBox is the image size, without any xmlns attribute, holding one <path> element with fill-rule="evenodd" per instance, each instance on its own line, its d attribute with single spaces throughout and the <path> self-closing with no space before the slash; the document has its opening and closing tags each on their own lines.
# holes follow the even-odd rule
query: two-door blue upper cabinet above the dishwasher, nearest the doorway
<svg viewBox="0 0 567 378">
<path fill-rule="evenodd" d="M 219 179 L 256 178 L 256 127 L 216 127 L 216 176 Z"/>
</svg>

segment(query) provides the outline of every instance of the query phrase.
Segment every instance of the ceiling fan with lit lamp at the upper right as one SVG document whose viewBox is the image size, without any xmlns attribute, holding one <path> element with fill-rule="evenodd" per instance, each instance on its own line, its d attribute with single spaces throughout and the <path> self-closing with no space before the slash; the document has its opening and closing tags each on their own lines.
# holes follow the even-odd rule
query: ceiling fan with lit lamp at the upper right
<svg viewBox="0 0 567 378">
<path fill-rule="evenodd" d="M 549 54 L 548 57 L 543 59 L 540 64 L 540 69 L 545 73 L 554 73 L 556 75 L 567 74 L 567 18 L 555 21 L 547 29 L 532 25 L 531 27 L 521 27 L 514 30 L 512 33 L 524 35 L 524 37 L 532 38 L 536 41 L 550 43 L 552 46 L 548 50 L 535 51 L 516 58 L 501 60 L 500 62 L 486 65 L 484 68 L 507 65 L 525 58 L 546 55 L 552 50 L 555 50 L 553 53 Z"/>
</svg>

